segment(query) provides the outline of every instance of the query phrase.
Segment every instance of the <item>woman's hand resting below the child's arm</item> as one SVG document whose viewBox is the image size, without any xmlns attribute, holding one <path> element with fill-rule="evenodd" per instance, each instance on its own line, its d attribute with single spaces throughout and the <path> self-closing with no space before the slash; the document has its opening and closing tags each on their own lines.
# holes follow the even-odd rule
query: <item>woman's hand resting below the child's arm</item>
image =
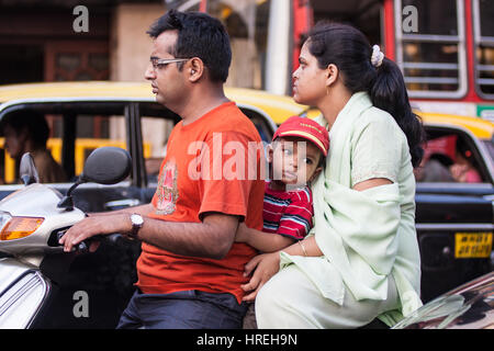
<svg viewBox="0 0 494 351">
<path fill-rule="evenodd" d="M 244 275 L 250 275 L 254 271 L 250 281 L 247 284 L 240 285 L 246 292 L 243 301 L 252 302 L 259 290 L 271 276 L 280 270 L 280 252 L 262 253 L 256 256 L 245 265 Z"/>
</svg>

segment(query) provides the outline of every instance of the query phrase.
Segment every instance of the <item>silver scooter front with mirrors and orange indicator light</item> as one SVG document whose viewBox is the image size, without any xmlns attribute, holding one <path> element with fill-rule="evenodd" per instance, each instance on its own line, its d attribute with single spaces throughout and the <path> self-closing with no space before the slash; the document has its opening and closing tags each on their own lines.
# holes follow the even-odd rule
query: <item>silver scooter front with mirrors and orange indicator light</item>
<svg viewBox="0 0 494 351">
<path fill-rule="evenodd" d="M 49 306 L 56 305 L 56 282 L 42 269 L 50 257 L 63 258 L 58 240 L 70 226 L 86 214 L 74 205 L 72 191 L 80 184 L 94 182 L 114 184 L 131 171 L 131 156 L 116 147 L 93 150 L 86 160 L 82 173 L 64 196 L 38 182 L 31 155 L 20 165 L 25 186 L 0 201 L 0 328 L 22 329 L 43 327 L 41 320 Z M 112 240 L 117 235 L 110 236 Z M 85 253 L 90 242 L 81 242 L 75 250 Z M 53 264 L 52 264 L 53 265 Z M 55 265 L 63 267 L 58 261 Z M 56 275 L 56 274 L 55 274 Z M 80 291 L 83 297 L 83 291 Z M 78 301 L 75 301 L 75 305 Z M 79 306 L 74 313 L 87 310 Z"/>
</svg>

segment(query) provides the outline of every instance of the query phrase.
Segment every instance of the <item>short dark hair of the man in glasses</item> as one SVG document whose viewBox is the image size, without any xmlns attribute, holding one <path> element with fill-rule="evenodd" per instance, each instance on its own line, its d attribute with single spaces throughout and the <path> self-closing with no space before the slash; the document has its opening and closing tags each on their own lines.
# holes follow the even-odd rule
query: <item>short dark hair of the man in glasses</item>
<svg viewBox="0 0 494 351">
<path fill-rule="evenodd" d="M 229 37 L 223 24 L 202 12 L 170 10 L 156 20 L 146 33 L 156 38 L 166 31 L 178 31 L 171 55 L 177 58 L 199 57 L 209 70 L 211 81 L 225 82 L 232 64 Z M 179 69 L 182 68 L 180 63 Z"/>
</svg>

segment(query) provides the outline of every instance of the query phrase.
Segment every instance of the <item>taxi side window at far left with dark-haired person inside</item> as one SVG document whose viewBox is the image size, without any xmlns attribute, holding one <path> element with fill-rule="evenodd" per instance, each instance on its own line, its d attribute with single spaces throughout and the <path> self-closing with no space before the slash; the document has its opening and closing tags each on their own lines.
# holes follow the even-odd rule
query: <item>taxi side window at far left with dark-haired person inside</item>
<svg viewBox="0 0 494 351">
<path fill-rule="evenodd" d="M 122 115 L 55 114 L 20 109 L 2 117 L 0 131 L 1 184 L 19 183 L 19 163 L 24 152 L 33 156 L 42 183 L 67 183 L 81 173 L 93 149 L 127 148 Z"/>
</svg>

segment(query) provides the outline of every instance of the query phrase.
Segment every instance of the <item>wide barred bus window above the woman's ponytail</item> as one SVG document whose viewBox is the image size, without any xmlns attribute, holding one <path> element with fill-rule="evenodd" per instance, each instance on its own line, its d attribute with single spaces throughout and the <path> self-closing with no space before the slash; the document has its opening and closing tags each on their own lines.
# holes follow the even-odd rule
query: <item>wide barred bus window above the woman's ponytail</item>
<svg viewBox="0 0 494 351">
<path fill-rule="evenodd" d="M 396 0 L 395 12 L 396 63 L 411 98 L 462 98 L 467 93 L 463 1 Z"/>
</svg>

